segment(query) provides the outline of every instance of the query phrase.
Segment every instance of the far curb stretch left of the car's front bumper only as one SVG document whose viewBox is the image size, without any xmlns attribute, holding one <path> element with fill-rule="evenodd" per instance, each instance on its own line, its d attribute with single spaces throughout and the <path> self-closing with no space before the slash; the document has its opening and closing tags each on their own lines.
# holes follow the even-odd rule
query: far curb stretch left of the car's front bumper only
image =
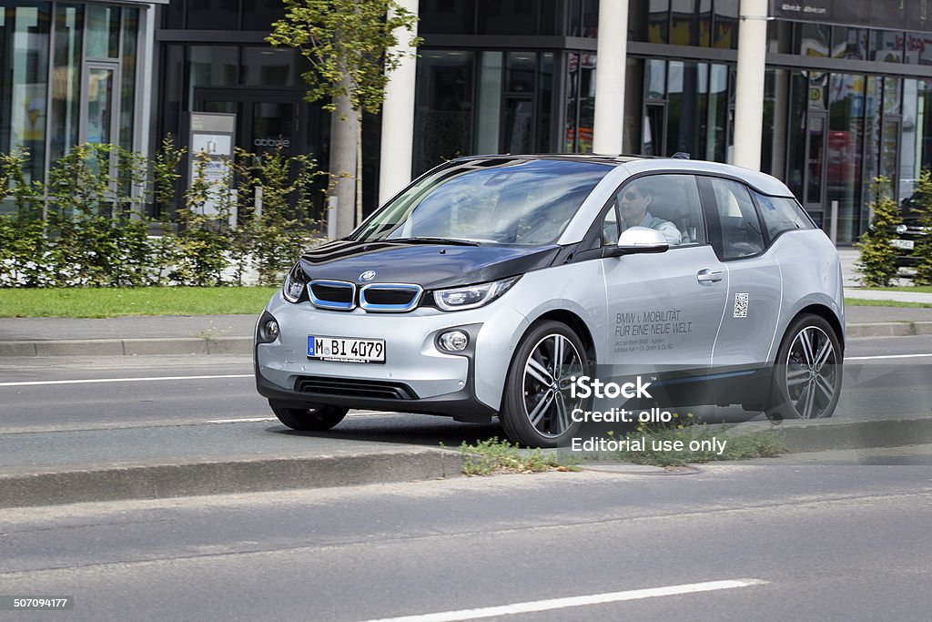
<svg viewBox="0 0 932 622">
<path fill-rule="evenodd" d="M 147 354 L 250 354 L 252 352 L 252 337 L 0 341 L 0 356 L 135 356 Z"/>
</svg>

